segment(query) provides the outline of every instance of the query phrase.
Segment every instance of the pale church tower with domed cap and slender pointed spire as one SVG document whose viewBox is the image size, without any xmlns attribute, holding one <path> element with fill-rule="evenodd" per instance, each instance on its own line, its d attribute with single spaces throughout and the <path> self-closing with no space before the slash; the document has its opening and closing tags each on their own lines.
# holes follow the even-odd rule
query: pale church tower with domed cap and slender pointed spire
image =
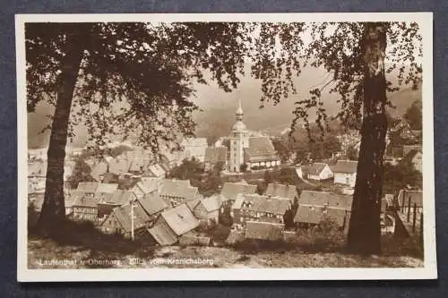
<svg viewBox="0 0 448 298">
<path fill-rule="evenodd" d="M 243 123 L 244 113 L 241 107 L 241 99 L 237 108 L 237 121 L 233 124 L 230 132 L 230 155 L 228 166 L 230 172 L 241 172 L 241 165 L 245 163 L 244 149 L 249 147 L 249 135 L 245 123 Z"/>
</svg>

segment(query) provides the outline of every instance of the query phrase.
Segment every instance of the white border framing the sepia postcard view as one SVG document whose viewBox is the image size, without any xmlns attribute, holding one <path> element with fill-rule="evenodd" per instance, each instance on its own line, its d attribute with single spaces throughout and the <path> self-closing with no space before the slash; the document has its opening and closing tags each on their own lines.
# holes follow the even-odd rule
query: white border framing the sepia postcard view
<svg viewBox="0 0 448 298">
<path fill-rule="evenodd" d="M 27 113 L 25 22 L 92 21 L 416 21 L 423 36 L 423 189 L 424 268 L 27 268 Z M 53 281 L 159 280 L 366 280 L 435 279 L 435 176 L 433 127 L 433 13 L 153 13 L 153 14 L 18 14 L 15 18 L 17 64 L 18 228 L 17 279 Z"/>
</svg>

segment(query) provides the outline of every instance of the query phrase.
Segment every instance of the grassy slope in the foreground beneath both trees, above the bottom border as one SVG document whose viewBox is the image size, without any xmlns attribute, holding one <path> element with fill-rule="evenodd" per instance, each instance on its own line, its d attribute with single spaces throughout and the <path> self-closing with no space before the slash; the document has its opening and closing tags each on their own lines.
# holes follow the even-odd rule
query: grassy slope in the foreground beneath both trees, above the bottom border
<svg viewBox="0 0 448 298">
<path fill-rule="evenodd" d="M 111 244 L 111 243 L 110 243 Z M 112 244 L 113 245 L 113 244 Z M 53 240 L 31 237 L 28 243 L 28 261 L 30 268 L 186 268 L 204 267 L 200 265 L 160 264 L 163 260 L 182 260 L 201 258 L 213 260 L 209 268 L 415 268 L 423 266 L 423 261 L 409 255 L 398 256 L 385 252 L 383 256 L 360 257 L 341 252 L 306 252 L 295 250 L 257 251 L 236 250 L 227 247 L 196 246 L 151 246 L 140 250 L 103 250 L 96 251 L 82 245 L 60 244 Z M 41 260 L 120 260 L 112 266 L 39 266 Z M 129 264 L 130 258 L 142 258 L 141 264 Z M 151 263 L 155 260 L 156 263 Z"/>
</svg>

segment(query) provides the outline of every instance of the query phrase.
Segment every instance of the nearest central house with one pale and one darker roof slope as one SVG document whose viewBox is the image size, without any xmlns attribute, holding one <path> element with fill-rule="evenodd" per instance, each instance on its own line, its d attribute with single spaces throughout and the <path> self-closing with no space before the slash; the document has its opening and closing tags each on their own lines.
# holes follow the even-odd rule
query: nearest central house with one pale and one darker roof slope
<svg viewBox="0 0 448 298">
<path fill-rule="evenodd" d="M 148 231 L 160 245 L 171 245 L 198 226 L 199 220 L 194 217 L 191 209 L 186 204 L 180 204 L 162 212 Z"/>
</svg>

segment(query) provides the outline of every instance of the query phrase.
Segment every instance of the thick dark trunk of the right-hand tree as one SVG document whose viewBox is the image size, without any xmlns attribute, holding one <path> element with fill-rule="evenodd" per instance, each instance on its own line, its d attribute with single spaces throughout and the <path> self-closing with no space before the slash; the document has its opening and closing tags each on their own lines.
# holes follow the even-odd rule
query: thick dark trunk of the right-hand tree
<svg viewBox="0 0 448 298">
<path fill-rule="evenodd" d="M 350 253 L 363 255 L 381 253 L 380 212 L 387 132 L 386 30 L 385 23 L 366 23 L 362 43 L 365 58 L 364 114 L 347 248 Z"/>
</svg>

